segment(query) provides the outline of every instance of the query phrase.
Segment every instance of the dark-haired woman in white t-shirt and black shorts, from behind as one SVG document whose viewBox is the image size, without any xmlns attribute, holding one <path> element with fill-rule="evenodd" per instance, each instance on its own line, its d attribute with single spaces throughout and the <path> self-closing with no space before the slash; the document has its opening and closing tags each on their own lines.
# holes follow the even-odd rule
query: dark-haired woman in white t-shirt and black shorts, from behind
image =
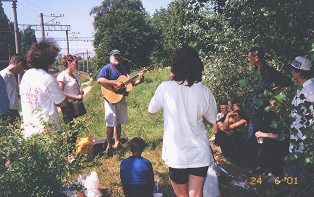
<svg viewBox="0 0 314 197">
<path fill-rule="evenodd" d="M 216 123 L 218 110 L 211 90 L 201 83 L 203 69 L 195 49 L 178 49 L 171 61 L 172 80 L 158 86 L 148 107 L 151 115 L 163 109 L 162 159 L 177 197 L 202 197 L 208 168 L 214 165 L 203 119 Z"/>
</svg>

